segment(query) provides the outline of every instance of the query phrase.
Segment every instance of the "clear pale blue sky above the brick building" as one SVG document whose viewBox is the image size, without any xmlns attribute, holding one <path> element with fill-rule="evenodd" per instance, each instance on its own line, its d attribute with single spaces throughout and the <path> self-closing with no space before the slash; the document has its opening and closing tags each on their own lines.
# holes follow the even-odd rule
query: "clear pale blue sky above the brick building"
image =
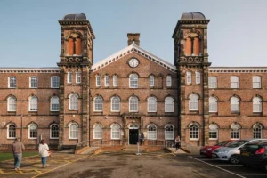
<svg viewBox="0 0 267 178">
<path fill-rule="evenodd" d="M 140 46 L 174 64 L 172 35 L 183 12 L 209 19 L 209 61 L 215 67 L 267 66 L 266 0 L 1 0 L 0 68 L 56 67 L 61 20 L 85 13 L 95 35 L 93 63 L 127 46 L 127 33 L 140 33 Z"/>
</svg>

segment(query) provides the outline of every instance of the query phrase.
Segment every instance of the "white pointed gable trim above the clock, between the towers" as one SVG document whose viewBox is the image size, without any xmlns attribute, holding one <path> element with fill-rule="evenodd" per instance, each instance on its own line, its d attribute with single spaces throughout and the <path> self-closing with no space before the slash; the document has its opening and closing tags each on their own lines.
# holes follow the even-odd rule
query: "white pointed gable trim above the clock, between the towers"
<svg viewBox="0 0 267 178">
<path fill-rule="evenodd" d="M 138 54 L 142 55 L 143 57 L 145 57 L 146 59 L 153 61 L 153 62 L 157 63 L 158 65 L 162 66 L 163 68 L 166 68 L 172 72 L 177 71 L 176 67 L 173 64 L 158 58 L 156 55 L 154 55 L 148 51 L 143 50 L 140 46 L 138 46 L 136 44 L 131 44 L 131 45 L 125 47 L 124 49 L 122 49 L 121 51 L 110 55 L 106 59 L 103 59 L 103 60 L 93 64 L 92 70 L 94 72 L 96 70 L 102 69 L 102 68 L 108 66 L 110 63 L 117 61 L 120 58 L 127 55 L 128 53 L 132 53 L 132 52 L 138 53 Z"/>
</svg>

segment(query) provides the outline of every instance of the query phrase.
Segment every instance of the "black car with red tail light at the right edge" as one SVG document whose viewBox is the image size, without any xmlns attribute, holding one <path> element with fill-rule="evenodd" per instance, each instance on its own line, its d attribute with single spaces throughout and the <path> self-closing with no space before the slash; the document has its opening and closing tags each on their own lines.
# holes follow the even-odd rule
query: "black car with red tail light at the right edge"
<svg viewBox="0 0 267 178">
<path fill-rule="evenodd" d="M 240 164 L 243 166 L 258 166 L 267 172 L 267 142 L 248 143 L 239 150 Z"/>
</svg>

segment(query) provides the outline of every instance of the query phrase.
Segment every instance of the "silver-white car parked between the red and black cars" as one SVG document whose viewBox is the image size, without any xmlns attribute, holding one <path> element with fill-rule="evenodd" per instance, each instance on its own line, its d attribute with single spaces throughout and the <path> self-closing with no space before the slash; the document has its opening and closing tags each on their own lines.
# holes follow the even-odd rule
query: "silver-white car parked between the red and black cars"
<svg viewBox="0 0 267 178">
<path fill-rule="evenodd" d="M 212 158 L 215 160 L 229 161 L 231 164 L 239 163 L 239 148 L 247 143 L 266 142 L 267 139 L 247 139 L 229 143 L 226 147 L 220 147 L 212 152 Z"/>
</svg>

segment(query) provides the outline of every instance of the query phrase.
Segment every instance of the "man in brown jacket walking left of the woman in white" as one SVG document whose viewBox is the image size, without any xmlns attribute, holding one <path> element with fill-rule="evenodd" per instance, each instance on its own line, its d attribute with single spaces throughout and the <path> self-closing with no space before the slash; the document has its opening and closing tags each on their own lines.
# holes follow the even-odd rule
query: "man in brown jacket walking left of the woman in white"
<svg viewBox="0 0 267 178">
<path fill-rule="evenodd" d="M 20 171 L 22 150 L 25 150 L 24 144 L 20 142 L 20 138 L 16 138 L 12 144 L 12 152 L 14 156 L 14 168 L 16 171 Z"/>
</svg>

